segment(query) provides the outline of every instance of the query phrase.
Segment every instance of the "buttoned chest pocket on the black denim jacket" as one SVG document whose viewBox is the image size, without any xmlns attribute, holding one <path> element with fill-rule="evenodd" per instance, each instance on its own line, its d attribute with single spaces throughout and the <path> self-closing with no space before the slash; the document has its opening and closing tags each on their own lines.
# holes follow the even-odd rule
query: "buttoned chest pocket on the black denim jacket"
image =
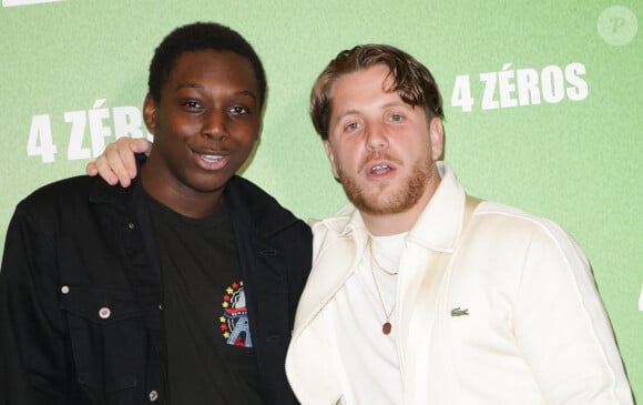
<svg viewBox="0 0 643 405">
<path fill-rule="evenodd" d="M 143 314 L 132 293 L 62 287 L 78 382 L 99 392 L 136 386 L 145 353 Z"/>
</svg>

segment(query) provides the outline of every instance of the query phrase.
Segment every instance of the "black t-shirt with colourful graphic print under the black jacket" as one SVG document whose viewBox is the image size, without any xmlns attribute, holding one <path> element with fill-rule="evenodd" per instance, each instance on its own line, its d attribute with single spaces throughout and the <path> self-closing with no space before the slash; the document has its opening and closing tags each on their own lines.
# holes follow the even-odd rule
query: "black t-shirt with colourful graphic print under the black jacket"
<svg viewBox="0 0 643 405">
<path fill-rule="evenodd" d="M 263 404 L 225 204 L 195 220 L 149 200 L 163 270 L 171 403 Z"/>
</svg>

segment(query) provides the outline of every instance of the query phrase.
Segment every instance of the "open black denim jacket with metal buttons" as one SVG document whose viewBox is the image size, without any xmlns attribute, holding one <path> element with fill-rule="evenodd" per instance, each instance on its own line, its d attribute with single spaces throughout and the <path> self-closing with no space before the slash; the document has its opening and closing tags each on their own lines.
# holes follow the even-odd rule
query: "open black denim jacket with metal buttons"
<svg viewBox="0 0 643 405">
<path fill-rule="evenodd" d="M 264 397 L 296 404 L 284 362 L 310 230 L 242 178 L 225 199 Z M 72 178 L 17 206 L 0 271 L 0 405 L 169 403 L 151 230 L 137 181 L 122 189 Z"/>
</svg>

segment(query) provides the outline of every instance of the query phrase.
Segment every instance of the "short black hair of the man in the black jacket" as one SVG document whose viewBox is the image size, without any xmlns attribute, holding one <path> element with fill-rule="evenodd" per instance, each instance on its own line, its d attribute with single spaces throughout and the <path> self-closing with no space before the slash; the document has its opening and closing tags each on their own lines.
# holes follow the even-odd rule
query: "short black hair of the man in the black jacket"
<svg viewBox="0 0 643 405">
<path fill-rule="evenodd" d="M 263 107 L 266 98 L 266 73 L 259 57 L 238 32 L 216 22 L 194 22 L 178 27 L 161 41 L 150 63 L 147 91 L 152 99 L 155 102 L 161 101 L 161 88 L 184 52 L 207 49 L 231 51 L 251 62 L 259 88 L 259 107 Z"/>
</svg>

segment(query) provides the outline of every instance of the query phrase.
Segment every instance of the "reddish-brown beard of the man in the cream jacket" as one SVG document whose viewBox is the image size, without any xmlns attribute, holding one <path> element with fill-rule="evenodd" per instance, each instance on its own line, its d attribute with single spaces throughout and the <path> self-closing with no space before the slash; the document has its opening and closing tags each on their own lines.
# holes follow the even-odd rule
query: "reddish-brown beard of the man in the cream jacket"
<svg viewBox="0 0 643 405">
<path fill-rule="evenodd" d="M 437 175 L 431 171 L 432 164 L 431 161 L 417 161 L 411 174 L 399 181 L 395 191 L 387 191 L 384 195 L 380 192 L 385 186 L 380 188 L 380 192 L 371 190 L 366 193 L 357 182 L 344 174 L 341 168 L 337 168 L 337 174 L 346 196 L 360 212 L 369 215 L 398 214 L 410 210 L 425 194 L 431 176 Z"/>
</svg>

